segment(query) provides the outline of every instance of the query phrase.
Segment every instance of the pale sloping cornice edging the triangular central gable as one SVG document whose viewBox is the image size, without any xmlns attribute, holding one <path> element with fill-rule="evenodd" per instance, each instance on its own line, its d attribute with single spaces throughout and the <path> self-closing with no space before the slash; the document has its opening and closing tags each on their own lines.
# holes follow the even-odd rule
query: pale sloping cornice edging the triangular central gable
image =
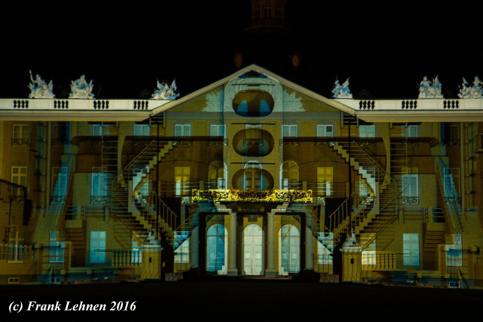
<svg viewBox="0 0 483 322">
<path fill-rule="evenodd" d="M 214 82 L 212 84 L 209 84 L 209 85 L 207 85 L 207 86 L 205 86 L 203 88 L 200 88 L 199 90 L 197 90 L 195 92 L 192 92 L 191 94 L 188 94 L 188 95 L 186 95 L 183 98 L 173 100 L 173 101 L 171 101 L 169 103 L 163 104 L 162 106 L 159 106 L 159 107 L 153 109 L 151 111 L 152 112 L 151 115 L 155 115 L 157 113 L 164 112 L 164 111 L 169 110 L 169 109 L 171 109 L 171 108 L 173 108 L 175 106 L 178 106 L 180 104 L 183 104 L 183 103 L 189 101 L 192 98 L 196 98 L 196 97 L 198 97 L 200 95 L 203 95 L 205 93 L 208 93 L 208 92 L 212 91 L 213 89 L 215 89 L 216 87 L 219 87 L 219 86 L 227 83 L 231 79 L 233 79 L 235 77 L 238 77 L 240 75 L 243 75 L 244 73 L 247 73 L 247 72 L 249 72 L 251 70 L 255 70 L 255 71 L 257 71 L 257 72 L 259 72 L 261 74 L 267 75 L 270 78 L 273 78 L 273 79 L 277 80 L 280 84 L 283 84 L 285 86 L 288 86 L 288 87 L 296 90 L 300 94 L 303 94 L 303 95 L 306 95 L 306 96 L 308 96 L 310 98 L 313 98 L 315 100 L 318 100 L 318 101 L 320 101 L 322 103 L 325 103 L 325 104 L 327 104 L 327 105 L 329 105 L 331 107 L 334 107 L 336 109 L 339 109 L 339 110 L 341 110 L 343 112 L 347 112 L 349 114 L 354 114 L 355 113 L 355 110 L 353 108 L 351 108 L 351 107 L 349 107 L 347 105 L 344 105 L 341 102 L 338 102 L 338 101 L 336 101 L 334 99 L 331 99 L 331 98 L 326 98 L 326 97 L 324 97 L 324 96 L 322 96 L 320 94 L 317 94 L 317 93 L 315 93 L 315 92 L 313 92 L 313 91 L 311 91 L 311 90 L 309 90 L 309 89 L 307 89 L 305 87 L 302 87 L 302 86 L 300 86 L 298 84 L 295 84 L 293 82 L 290 82 L 289 80 L 286 80 L 285 78 L 283 78 L 283 77 L 281 77 L 281 76 L 279 76 L 279 75 L 271 72 L 270 70 L 266 70 L 266 69 L 264 69 L 264 68 L 262 68 L 262 67 L 260 67 L 258 65 L 255 65 L 255 64 L 251 64 L 251 65 L 249 65 L 247 67 L 242 68 L 241 70 L 238 70 L 238 71 L 234 72 L 233 74 L 231 74 L 231 75 L 229 75 L 229 76 L 227 76 L 227 77 L 225 77 L 225 78 L 223 78 L 223 79 L 221 79 L 219 81 L 216 81 L 216 82 Z"/>
</svg>

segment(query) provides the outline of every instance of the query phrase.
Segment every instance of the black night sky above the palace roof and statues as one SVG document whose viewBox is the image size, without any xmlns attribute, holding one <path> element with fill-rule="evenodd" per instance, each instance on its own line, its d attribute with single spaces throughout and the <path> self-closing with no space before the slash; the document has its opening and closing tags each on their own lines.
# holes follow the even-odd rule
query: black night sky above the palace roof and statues
<svg viewBox="0 0 483 322">
<path fill-rule="evenodd" d="M 29 69 L 52 79 L 57 97 L 81 74 L 94 80 L 97 98 L 139 98 L 156 78 L 174 77 L 184 96 L 235 72 L 237 51 L 243 66 L 256 63 L 327 97 L 336 75 L 350 77 L 353 95 L 366 89 L 372 98 L 415 98 L 416 82 L 437 74 L 456 96 L 462 76 L 483 76 L 476 2 L 464 10 L 332 2 L 287 0 L 292 34 L 252 37 L 243 33 L 249 0 L 20 4 L 0 22 L 0 97 L 27 98 Z M 298 70 L 288 58 L 294 51 Z"/>
</svg>

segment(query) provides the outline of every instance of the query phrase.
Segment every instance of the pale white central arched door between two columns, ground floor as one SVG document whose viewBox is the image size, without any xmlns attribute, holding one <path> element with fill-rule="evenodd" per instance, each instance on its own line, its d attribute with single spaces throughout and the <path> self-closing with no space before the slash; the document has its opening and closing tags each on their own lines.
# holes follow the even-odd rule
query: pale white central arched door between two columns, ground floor
<svg viewBox="0 0 483 322">
<path fill-rule="evenodd" d="M 264 273 L 263 230 L 257 224 L 243 229 L 243 271 L 246 275 L 262 275 Z"/>
</svg>

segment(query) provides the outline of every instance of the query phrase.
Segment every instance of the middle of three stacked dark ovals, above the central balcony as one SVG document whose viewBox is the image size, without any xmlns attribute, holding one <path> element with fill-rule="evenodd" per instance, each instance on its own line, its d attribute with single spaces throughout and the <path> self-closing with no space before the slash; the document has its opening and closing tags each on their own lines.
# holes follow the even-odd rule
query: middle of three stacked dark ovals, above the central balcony
<svg viewBox="0 0 483 322">
<path fill-rule="evenodd" d="M 233 148 L 244 156 L 265 156 L 273 150 L 273 137 L 268 131 L 248 128 L 233 137 Z"/>
</svg>

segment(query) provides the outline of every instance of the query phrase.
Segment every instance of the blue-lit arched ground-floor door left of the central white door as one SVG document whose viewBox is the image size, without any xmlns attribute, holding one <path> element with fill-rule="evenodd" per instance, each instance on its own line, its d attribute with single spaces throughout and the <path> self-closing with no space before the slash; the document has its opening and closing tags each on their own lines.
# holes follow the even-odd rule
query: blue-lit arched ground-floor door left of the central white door
<svg viewBox="0 0 483 322">
<path fill-rule="evenodd" d="M 222 224 L 214 224 L 208 228 L 206 233 L 207 271 L 218 271 L 219 274 L 223 274 L 227 270 L 227 235 L 227 229 Z"/>
</svg>

